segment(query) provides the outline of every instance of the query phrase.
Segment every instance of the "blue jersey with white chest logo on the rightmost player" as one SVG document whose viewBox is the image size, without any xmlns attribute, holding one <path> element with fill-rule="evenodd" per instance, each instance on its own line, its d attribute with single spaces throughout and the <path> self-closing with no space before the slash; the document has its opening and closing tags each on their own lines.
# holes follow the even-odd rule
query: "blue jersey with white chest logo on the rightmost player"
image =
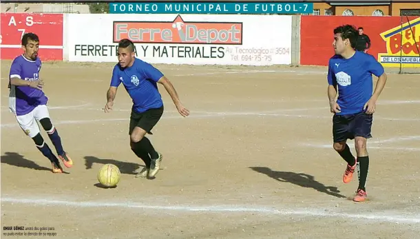
<svg viewBox="0 0 420 239">
<path fill-rule="evenodd" d="M 331 57 L 327 79 L 329 85 L 338 85 L 337 103 L 341 112 L 337 115 L 364 111 L 373 93 L 372 74 L 381 76 L 384 67 L 370 54 L 356 51 L 350 59 L 340 55 Z"/>
</svg>

